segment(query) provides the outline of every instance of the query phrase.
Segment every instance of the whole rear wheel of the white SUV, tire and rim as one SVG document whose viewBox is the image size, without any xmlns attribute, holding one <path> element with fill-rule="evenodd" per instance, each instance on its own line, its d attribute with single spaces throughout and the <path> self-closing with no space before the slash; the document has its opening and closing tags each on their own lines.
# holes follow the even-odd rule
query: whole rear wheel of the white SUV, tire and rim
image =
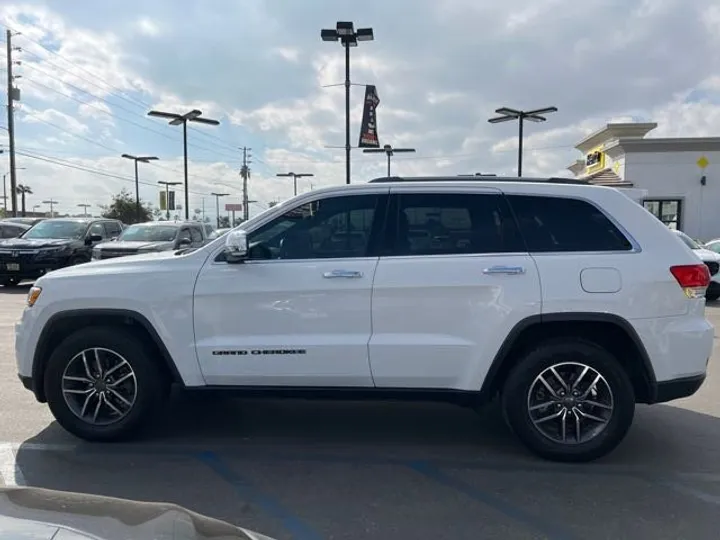
<svg viewBox="0 0 720 540">
<path fill-rule="evenodd" d="M 502 405 L 511 429 L 537 455 L 592 461 L 625 437 L 635 393 L 625 370 L 602 347 L 554 340 L 526 353 L 510 373 Z"/>
</svg>

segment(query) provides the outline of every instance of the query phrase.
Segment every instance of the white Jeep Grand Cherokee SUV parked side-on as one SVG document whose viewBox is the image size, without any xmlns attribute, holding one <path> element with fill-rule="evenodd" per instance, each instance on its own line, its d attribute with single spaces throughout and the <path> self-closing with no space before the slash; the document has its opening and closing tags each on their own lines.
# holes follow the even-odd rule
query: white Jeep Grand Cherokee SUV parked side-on
<svg viewBox="0 0 720 540">
<path fill-rule="evenodd" d="M 636 403 L 700 387 L 708 282 L 612 188 L 378 179 L 300 195 L 199 249 L 42 277 L 18 371 L 89 440 L 133 434 L 173 383 L 470 406 L 499 394 L 532 451 L 587 461 L 623 439 Z"/>
</svg>

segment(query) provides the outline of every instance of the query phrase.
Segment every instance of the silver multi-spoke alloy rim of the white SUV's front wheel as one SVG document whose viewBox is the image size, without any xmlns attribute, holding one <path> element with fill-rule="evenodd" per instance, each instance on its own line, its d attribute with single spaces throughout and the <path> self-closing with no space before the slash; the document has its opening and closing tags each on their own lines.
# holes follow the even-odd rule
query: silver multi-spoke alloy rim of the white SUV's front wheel
<svg viewBox="0 0 720 540">
<path fill-rule="evenodd" d="M 83 422 L 108 426 L 125 418 L 137 399 L 137 378 L 130 363 L 102 347 L 73 356 L 62 375 L 62 393 Z"/>
</svg>

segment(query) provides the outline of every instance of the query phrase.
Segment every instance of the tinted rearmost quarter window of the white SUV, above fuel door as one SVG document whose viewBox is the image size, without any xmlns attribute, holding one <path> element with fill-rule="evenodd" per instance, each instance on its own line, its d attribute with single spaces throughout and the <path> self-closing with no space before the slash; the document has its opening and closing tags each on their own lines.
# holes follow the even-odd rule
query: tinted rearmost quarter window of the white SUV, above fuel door
<svg viewBox="0 0 720 540">
<path fill-rule="evenodd" d="M 531 252 L 632 249 L 605 214 L 586 201 L 530 195 L 508 198 Z"/>
</svg>

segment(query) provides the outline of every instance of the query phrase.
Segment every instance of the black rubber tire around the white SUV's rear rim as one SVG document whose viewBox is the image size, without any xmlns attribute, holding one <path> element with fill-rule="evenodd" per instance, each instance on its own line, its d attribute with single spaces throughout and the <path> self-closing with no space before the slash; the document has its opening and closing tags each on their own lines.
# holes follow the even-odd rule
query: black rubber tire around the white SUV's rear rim
<svg viewBox="0 0 720 540">
<path fill-rule="evenodd" d="M 568 405 L 567 402 L 563 404 L 554 403 L 551 407 L 540 410 L 537 413 L 530 412 L 529 393 L 533 382 L 543 374 L 546 369 L 562 363 L 566 363 L 566 366 L 570 363 L 589 366 L 589 368 L 604 377 L 604 380 L 607 382 L 607 387 L 612 393 L 612 410 L 602 409 L 602 412 L 597 413 L 596 411 L 601 409 L 583 403 L 586 414 L 590 412 L 594 416 L 603 416 L 603 418 L 607 420 L 605 427 L 600 430 L 602 424 L 593 424 L 592 421 L 582 417 L 581 421 L 585 422 L 586 426 L 599 431 L 593 438 L 589 438 L 588 440 L 579 438 L 580 440 L 576 439 L 568 441 L 567 443 L 558 442 L 543 434 L 540 430 L 541 428 L 537 427 L 531 418 L 531 414 L 537 414 L 538 416 L 535 420 L 538 420 L 542 414 L 547 413 L 550 415 L 553 411 L 561 414 L 561 411 L 566 410 L 566 406 L 576 407 L 577 405 L 574 403 L 579 403 L 570 402 L 570 405 Z M 583 368 L 570 366 L 567 369 L 577 369 L 581 371 Z M 554 380 L 557 381 L 557 379 Z M 589 386 L 590 384 L 588 383 L 587 387 Z M 540 387 L 538 386 L 536 388 Z M 572 386 L 570 386 L 570 388 L 572 388 Z M 578 388 L 581 391 L 586 390 L 585 387 L 581 388 L 578 386 Z M 567 398 L 570 398 L 569 394 Z M 552 397 L 548 391 L 546 399 L 554 400 L 555 398 Z M 581 404 L 580 407 L 582 407 L 583 404 Z M 635 414 L 635 392 L 627 373 L 618 360 L 607 350 L 585 340 L 563 338 L 542 343 L 536 348 L 527 351 L 522 356 L 505 382 L 502 391 L 502 407 L 512 431 L 527 448 L 538 456 L 552 461 L 586 462 L 608 454 L 623 440 L 632 424 Z M 552 409 L 552 407 L 557 407 L 557 409 Z M 587 407 L 590 407 L 590 409 L 588 410 Z M 575 408 L 572 409 L 572 411 L 577 410 L 578 409 Z M 570 412 L 569 414 L 575 415 L 572 417 L 568 416 L 568 418 L 572 419 L 570 427 L 573 430 L 572 436 L 576 437 L 576 435 L 574 435 L 577 433 L 575 431 L 574 419 L 579 415 L 575 412 Z M 559 423 L 560 421 L 558 421 L 558 424 Z M 550 423 L 548 422 L 548 424 Z M 542 429 L 552 429 L 552 427 L 546 428 L 545 426 L 546 424 L 543 424 Z M 561 429 L 561 427 L 558 427 L 558 430 Z M 560 433 L 562 432 L 560 431 Z M 568 434 L 567 431 L 566 434 Z M 559 437 L 560 435 L 558 435 L 558 438 Z"/>
</svg>

